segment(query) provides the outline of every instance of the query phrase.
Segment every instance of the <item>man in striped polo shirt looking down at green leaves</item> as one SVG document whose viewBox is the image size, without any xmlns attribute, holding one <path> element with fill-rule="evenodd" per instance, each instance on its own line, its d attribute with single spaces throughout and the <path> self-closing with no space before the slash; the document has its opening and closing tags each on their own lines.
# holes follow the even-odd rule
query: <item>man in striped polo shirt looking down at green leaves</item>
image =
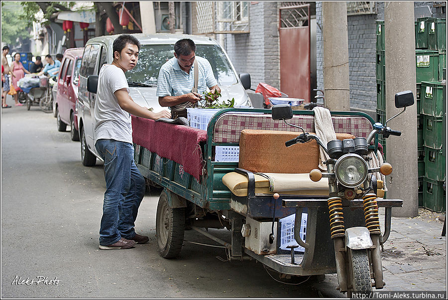
<svg viewBox="0 0 448 300">
<path fill-rule="evenodd" d="M 171 108 L 171 118 L 187 118 L 187 108 L 193 107 L 200 93 L 210 88 L 211 92 L 221 92 L 213 74 L 210 62 L 195 55 L 196 45 L 189 39 L 178 40 L 174 44 L 174 57 L 160 68 L 157 81 L 157 96 L 161 106 Z M 193 92 L 195 78 L 195 60 L 198 63 L 198 90 Z"/>
</svg>

